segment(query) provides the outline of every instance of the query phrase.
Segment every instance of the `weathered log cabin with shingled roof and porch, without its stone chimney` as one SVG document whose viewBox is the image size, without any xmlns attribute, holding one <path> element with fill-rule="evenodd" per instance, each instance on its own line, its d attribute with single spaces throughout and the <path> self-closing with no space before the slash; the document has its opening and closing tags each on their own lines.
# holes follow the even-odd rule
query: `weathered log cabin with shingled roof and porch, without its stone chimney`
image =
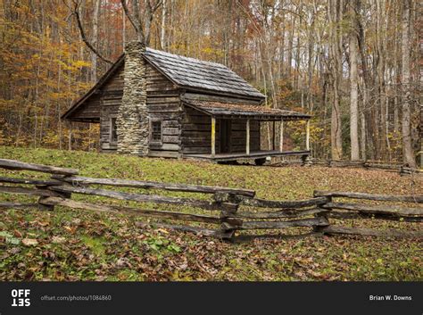
<svg viewBox="0 0 423 315">
<path fill-rule="evenodd" d="M 127 57 L 129 54 L 127 52 Z M 152 157 L 195 158 L 215 162 L 310 154 L 310 115 L 263 105 L 265 96 L 244 79 L 215 62 L 204 62 L 146 48 L 147 150 Z M 127 61 L 128 62 L 128 61 Z M 62 115 L 62 119 L 99 123 L 100 147 L 116 152 L 120 143 L 117 118 L 122 104 L 125 54 Z M 306 120 L 302 151 L 284 151 L 284 123 Z M 280 121 L 280 142 L 261 150 L 261 122 Z M 278 147 L 277 147 L 278 146 Z"/>
</svg>

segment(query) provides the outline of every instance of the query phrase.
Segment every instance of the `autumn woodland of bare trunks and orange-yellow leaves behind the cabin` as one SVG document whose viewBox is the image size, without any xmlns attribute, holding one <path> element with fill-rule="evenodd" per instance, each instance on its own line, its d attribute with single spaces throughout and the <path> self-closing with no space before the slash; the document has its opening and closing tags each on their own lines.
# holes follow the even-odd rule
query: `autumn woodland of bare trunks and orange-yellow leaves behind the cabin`
<svg viewBox="0 0 423 315">
<path fill-rule="evenodd" d="M 414 162 L 420 5 L 162 0 L 150 46 L 224 63 L 268 95 L 267 106 L 311 113 L 314 157 Z M 114 61 L 136 34 L 120 0 L 0 0 L 0 145 L 97 150 L 97 125 L 60 120 L 111 66 L 84 37 Z M 271 128 L 264 128 L 264 147 Z"/>
</svg>

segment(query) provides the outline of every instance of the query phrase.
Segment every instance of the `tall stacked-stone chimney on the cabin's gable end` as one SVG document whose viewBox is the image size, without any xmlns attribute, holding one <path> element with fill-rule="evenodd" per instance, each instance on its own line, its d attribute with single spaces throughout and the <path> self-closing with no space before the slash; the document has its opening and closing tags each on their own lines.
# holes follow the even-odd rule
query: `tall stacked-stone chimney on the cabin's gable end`
<svg viewBox="0 0 423 315">
<path fill-rule="evenodd" d="M 122 104 L 116 120 L 118 153 L 146 155 L 149 123 L 147 113 L 145 45 L 131 41 L 125 46 Z"/>
</svg>

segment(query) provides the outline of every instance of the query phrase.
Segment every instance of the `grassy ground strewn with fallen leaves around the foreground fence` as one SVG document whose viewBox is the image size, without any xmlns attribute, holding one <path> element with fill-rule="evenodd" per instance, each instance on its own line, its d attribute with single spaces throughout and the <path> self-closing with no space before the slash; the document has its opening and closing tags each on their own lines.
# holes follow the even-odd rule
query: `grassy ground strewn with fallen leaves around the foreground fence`
<svg viewBox="0 0 423 315">
<path fill-rule="evenodd" d="M 230 166 L 1 146 L 0 158 L 76 168 L 81 176 L 95 178 L 244 187 L 267 199 L 306 199 L 314 189 L 423 194 L 421 179 L 379 170 Z M 0 170 L 0 176 L 11 173 L 43 177 Z M 2 201 L 28 198 L 0 194 Z M 423 280 L 422 248 L 416 239 L 311 236 L 231 244 L 162 228 L 137 228 L 134 222 L 125 215 L 63 207 L 6 210 L 0 219 L 0 280 Z M 380 220 L 342 223 L 421 228 L 419 223 Z"/>
</svg>

